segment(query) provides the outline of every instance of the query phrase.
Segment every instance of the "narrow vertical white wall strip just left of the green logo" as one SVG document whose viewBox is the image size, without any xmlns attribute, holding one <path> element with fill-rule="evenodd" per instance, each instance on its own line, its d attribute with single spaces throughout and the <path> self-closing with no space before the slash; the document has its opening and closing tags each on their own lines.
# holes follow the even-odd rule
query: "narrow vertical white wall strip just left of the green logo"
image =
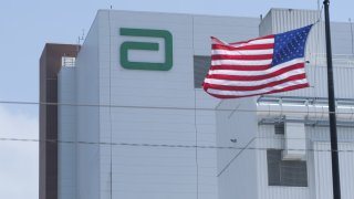
<svg viewBox="0 0 354 199">
<path fill-rule="evenodd" d="M 112 117 L 111 117 L 111 64 L 112 57 L 118 56 L 116 53 L 112 55 L 111 49 L 115 45 L 112 44 L 112 35 L 117 34 L 118 30 L 116 30 L 115 34 L 111 32 L 111 15 L 110 12 L 100 10 L 97 12 L 97 27 L 98 29 L 98 98 L 100 104 L 100 134 L 98 140 L 102 143 L 106 143 L 106 145 L 100 146 L 100 198 L 113 198 L 112 195 L 112 145 L 114 143 L 112 140 Z M 116 46 L 118 48 L 118 46 Z"/>
</svg>

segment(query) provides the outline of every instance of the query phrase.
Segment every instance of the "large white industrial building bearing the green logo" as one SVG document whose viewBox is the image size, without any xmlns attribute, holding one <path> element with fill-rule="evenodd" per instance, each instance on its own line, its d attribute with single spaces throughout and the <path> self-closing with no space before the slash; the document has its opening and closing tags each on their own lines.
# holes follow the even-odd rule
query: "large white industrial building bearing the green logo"
<svg viewBox="0 0 354 199">
<path fill-rule="evenodd" d="M 311 87 L 226 101 L 200 88 L 211 35 L 242 41 L 319 18 L 100 10 L 75 66 L 58 74 L 58 198 L 332 198 L 323 22 L 306 48 Z M 352 24 L 331 25 L 342 198 L 351 199 Z"/>
</svg>

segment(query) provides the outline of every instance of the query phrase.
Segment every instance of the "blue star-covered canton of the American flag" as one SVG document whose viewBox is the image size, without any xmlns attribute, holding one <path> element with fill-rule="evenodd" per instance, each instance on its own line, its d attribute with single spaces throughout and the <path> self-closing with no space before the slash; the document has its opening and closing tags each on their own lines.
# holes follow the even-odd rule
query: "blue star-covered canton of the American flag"
<svg viewBox="0 0 354 199">
<path fill-rule="evenodd" d="M 303 57 L 311 25 L 274 35 L 272 66 Z"/>
</svg>

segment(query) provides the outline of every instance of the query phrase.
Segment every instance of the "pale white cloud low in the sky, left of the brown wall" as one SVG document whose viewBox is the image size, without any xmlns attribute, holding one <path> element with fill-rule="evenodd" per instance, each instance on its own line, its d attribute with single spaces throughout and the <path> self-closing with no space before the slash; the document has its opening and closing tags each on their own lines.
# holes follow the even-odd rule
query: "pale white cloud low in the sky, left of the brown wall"
<svg viewBox="0 0 354 199">
<path fill-rule="evenodd" d="M 38 116 L 0 106 L 0 138 L 39 137 Z M 0 140 L 0 198 L 39 198 L 39 143 Z"/>
</svg>

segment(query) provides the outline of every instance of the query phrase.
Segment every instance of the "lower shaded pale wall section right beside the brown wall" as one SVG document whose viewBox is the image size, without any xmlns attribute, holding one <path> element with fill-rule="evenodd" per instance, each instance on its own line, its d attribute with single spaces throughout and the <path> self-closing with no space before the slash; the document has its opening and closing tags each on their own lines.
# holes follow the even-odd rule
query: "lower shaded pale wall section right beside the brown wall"
<svg viewBox="0 0 354 199">
<path fill-rule="evenodd" d="M 75 67 L 58 75 L 58 198 L 76 198 L 76 103 Z M 69 142 L 69 143 L 66 143 Z"/>
</svg>

